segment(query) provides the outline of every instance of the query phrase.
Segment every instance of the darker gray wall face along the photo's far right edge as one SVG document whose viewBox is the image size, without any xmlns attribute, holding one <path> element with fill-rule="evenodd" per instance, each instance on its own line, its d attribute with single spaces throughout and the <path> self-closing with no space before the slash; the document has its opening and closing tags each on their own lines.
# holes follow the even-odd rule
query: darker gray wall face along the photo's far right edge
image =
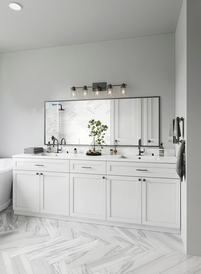
<svg viewBox="0 0 201 274">
<path fill-rule="evenodd" d="M 201 256 L 201 2 L 187 0 L 187 253 Z"/>
</svg>

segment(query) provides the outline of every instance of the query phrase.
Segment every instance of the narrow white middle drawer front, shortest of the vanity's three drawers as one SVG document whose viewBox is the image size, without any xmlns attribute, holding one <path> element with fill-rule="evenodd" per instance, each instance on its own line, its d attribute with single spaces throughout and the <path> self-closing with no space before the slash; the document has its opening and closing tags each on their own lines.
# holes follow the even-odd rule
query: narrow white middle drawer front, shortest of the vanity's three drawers
<svg viewBox="0 0 201 274">
<path fill-rule="evenodd" d="M 71 173 L 106 174 L 105 161 L 70 160 Z"/>
</svg>

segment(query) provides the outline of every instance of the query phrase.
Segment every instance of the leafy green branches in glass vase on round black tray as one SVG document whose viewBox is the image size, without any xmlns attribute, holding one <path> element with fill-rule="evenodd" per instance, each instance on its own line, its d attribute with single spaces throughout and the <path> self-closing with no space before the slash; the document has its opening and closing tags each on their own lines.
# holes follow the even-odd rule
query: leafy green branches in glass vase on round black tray
<svg viewBox="0 0 201 274">
<path fill-rule="evenodd" d="M 102 145 L 106 144 L 105 132 L 108 129 L 108 126 L 103 125 L 100 120 L 95 121 L 94 119 L 88 122 L 89 136 L 93 137 L 93 142 L 89 145 L 89 150 L 87 155 L 101 155 L 100 148 L 103 148 Z"/>
</svg>

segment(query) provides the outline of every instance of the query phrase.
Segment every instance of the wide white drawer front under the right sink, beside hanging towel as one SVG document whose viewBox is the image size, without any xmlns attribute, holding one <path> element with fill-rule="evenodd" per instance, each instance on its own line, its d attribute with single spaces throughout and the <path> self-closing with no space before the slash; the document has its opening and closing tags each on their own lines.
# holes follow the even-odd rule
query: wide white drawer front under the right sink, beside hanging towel
<svg viewBox="0 0 201 274">
<path fill-rule="evenodd" d="M 178 178 L 176 164 L 107 162 L 107 175 Z"/>
</svg>

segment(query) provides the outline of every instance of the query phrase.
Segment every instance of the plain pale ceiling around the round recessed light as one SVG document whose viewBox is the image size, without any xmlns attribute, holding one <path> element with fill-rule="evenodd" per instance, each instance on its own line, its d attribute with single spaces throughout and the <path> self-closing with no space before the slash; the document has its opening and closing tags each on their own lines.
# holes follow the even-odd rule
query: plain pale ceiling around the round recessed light
<svg viewBox="0 0 201 274">
<path fill-rule="evenodd" d="M 175 32 L 182 0 L 0 1 L 0 53 Z"/>
</svg>

